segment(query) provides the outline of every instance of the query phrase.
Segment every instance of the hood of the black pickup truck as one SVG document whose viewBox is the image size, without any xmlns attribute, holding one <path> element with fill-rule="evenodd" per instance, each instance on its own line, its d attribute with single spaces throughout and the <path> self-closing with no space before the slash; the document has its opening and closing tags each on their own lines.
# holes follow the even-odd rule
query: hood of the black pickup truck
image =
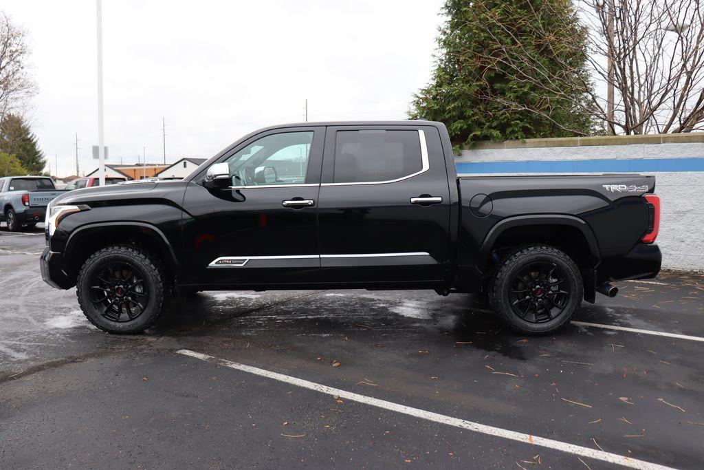
<svg viewBox="0 0 704 470">
<path fill-rule="evenodd" d="M 112 205 L 135 199 L 162 199 L 174 192 L 183 192 L 187 181 L 163 181 L 158 183 L 133 183 L 130 185 L 109 185 L 87 187 L 82 190 L 65 192 L 51 202 L 58 204 Z"/>
</svg>

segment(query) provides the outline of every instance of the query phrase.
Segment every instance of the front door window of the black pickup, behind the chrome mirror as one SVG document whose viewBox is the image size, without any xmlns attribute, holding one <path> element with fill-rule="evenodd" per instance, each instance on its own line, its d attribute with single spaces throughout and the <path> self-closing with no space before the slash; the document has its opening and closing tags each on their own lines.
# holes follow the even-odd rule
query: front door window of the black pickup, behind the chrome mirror
<svg viewBox="0 0 704 470">
<path fill-rule="evenodd" d="M 313 132 L 267 135 L 227 159 L 233 186 L 306 183 Z"/>
</svg>

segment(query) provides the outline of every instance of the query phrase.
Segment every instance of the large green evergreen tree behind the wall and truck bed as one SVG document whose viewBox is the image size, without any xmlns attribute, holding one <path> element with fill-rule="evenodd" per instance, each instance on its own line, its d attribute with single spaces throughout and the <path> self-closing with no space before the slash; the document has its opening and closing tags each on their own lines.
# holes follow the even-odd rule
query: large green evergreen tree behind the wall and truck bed
<svg viewBox="0 0 704 470">
<path fill-rule="evenodd" d="M 431 82 L 411 118 L 454 144 L 589 135 L 586 30 L 570 0 L 447 0 Z"/>
</svg>

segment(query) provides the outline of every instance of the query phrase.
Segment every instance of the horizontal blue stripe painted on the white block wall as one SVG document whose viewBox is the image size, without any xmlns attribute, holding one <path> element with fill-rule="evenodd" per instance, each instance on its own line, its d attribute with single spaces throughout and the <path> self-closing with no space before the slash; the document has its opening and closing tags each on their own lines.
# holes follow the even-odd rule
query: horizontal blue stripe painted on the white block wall
<svg viewBox="0 0 704 470">
<path fill-rule="evenodd" d="M 704 158 L 458 162 L 457 173 L 630 173 L 704 171 Z"/>
</svg>

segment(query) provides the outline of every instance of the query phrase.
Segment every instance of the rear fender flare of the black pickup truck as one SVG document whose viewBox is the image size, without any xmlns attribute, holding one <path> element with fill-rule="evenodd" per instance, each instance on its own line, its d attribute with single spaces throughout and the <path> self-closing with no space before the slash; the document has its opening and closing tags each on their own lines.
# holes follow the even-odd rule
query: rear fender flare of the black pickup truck
<svg viewBox="0 0 704 470">
<path fill-rule="evenodd" d="M 486 234 L 482 247 L 479 249 L 479 266 L 484 269 L 489 264 L 489 256 L 491 255 L 491 249 L 494 247 L 494 242 L 498 239 L 505 230 L 510 228 L 520 227 L 523 225 L 567 225 L 570 227 L 577 228 L 584 239 L 586 240 L 587 247 L 589 248 L 589 253 L 592 256 L 594 266 L 598 264 L 601 255 L 599 254 L 599 245 L 596 242 L 596 237 L 594 236 L 591 227 L 585 221 L 579 217 L 566 216 L 563 214 L 532 214 L 528 216 L 515 216 L 508 217 L 499 221 L 494 225 L 494 227 L 489 230 Z"/>
</svg>

